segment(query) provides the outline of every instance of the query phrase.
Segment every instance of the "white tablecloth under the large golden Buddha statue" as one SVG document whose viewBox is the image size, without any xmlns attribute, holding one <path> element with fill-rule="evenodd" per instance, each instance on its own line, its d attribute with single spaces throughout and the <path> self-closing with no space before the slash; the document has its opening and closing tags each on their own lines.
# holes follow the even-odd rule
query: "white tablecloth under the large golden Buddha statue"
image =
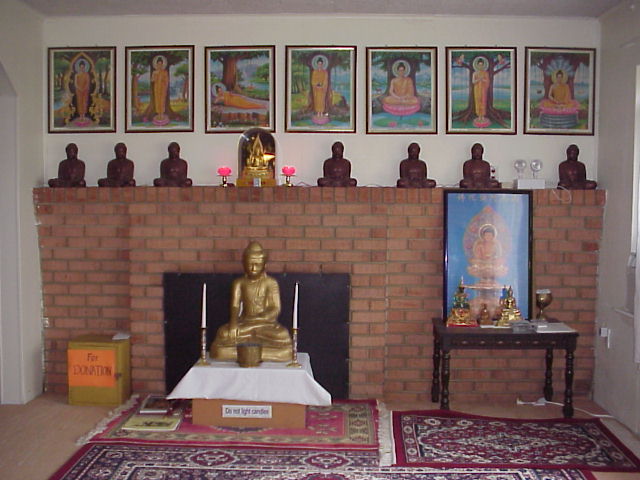
<svg viewBox="0 0 640 480">
<path fill-rule="evenodd" d="M 308 353 L 298 353 L 302 368 L 262 362 L 243 368 L 236 362 L 210 360 L 194 365 L 167 398 L 208 398 L 252 402 L 331 405 L 331 394 L 313 379 Z"/>
</svg>

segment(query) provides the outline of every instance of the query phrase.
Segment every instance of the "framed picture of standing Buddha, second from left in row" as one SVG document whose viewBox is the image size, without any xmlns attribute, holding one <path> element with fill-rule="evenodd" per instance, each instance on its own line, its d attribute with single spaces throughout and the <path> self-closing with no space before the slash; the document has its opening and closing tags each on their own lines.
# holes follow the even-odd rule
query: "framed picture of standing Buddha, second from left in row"
<svg viewBox="0 0 640 480">
<path fill-rule="evenodd" d="M 125 47 L 127 133 L 193 132 L 193 52 L 193 45 Z"/>
</svg>

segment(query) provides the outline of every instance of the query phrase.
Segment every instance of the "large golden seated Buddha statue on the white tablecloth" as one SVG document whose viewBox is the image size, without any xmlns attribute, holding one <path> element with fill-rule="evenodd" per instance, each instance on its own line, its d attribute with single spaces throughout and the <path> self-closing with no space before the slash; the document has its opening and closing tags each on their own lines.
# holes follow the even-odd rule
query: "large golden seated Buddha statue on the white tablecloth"
<svg viewBox="0 0 640 480">
<path fill-rule="evenodd" d="M 289 331 L 278 323 L 280 289 L 267 275 L 267 253 L 258 242 L 250 242 L 242 255 L 244 276 L 231 285 L 229 322 L 222 325 L 210 348 L 216 360 L 236 360 L 241 343 L 262 345 L 262 360 L 287 362 L 292 358 Z"/>
</svg>

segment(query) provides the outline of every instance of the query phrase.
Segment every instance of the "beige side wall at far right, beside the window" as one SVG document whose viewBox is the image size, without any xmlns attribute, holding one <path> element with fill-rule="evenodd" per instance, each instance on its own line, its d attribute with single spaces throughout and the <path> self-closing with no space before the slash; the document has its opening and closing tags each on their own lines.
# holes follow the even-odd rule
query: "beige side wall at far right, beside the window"
<svg viewBox="0 0 640 480">
<path fill-rule="evenodd" d="M 640 374 L 633 362 L 632 318 L 616 312 L 626 302 L 634 189 L 636 68 L 640 11 L 625 1 L 602 20 L 598 180 L 607 189 L 600 252 L 598 326 L 612 330 L 609 347 L 596 342 L 595 399 L 640 432 Z M 637 182 L 637 178 L 635 179 Z"/>
</svg>

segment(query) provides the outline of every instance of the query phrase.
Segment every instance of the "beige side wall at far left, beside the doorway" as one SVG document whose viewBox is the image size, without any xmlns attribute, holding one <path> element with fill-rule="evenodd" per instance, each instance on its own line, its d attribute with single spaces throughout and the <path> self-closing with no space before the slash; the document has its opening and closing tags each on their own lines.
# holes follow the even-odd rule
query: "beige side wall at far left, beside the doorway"
<svg viewBox="0 0 640 480">
<path fill-rule="evenodd" d="M 0 8 L 0 63 L 17 95 L 17 115 L 11 114 L 17 118 L 7 119 L 8 112 L 3 111 L 3 121 L 14 122 L 17 131 L 14 138 L 3 140 L 16 148 L 2 153 L 2 164 L 15 169 L 12 181 L 17 184 L 13 202 L 17 215 L 12 215 L 10 222 L 3 217 L 3 228 L 15 229 L 15 243 L 6 241 L 0 247 L 10 249 L 19 259 L 18 285 L 3 285 L 4 296 L 0 298 L 5 306 L 6 302 L 15 303 L 16 313 L 0 318 L 2 340 L 10 346 L 3 352 L 3 379 L 9 383 L 3 385 L 2 401 L 21 403 L 42 390 L 40 267 L 31 191 L 43 178 L 41 92 L 45 68 L 42 62 L 32 61 L 42 57 L 42 19 L 15 0 L 4 0 Z M 4 354 L 10 355 L 11 363 Z"/>
</svg>

